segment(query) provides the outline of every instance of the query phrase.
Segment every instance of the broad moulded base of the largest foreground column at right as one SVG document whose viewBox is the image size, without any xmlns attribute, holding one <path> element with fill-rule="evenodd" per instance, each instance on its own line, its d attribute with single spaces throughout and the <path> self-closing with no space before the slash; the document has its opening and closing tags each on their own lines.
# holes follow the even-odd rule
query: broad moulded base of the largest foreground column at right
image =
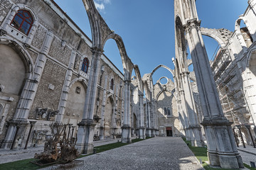
<svg viewBox="0 0 256 170">
<path fill-rule="evenodd" d="M 203 120 L 210 165 L 223 169 L 243 168 L 242 158 L 235 145 L 231 124 L 225 117 Z"/>
</svg>

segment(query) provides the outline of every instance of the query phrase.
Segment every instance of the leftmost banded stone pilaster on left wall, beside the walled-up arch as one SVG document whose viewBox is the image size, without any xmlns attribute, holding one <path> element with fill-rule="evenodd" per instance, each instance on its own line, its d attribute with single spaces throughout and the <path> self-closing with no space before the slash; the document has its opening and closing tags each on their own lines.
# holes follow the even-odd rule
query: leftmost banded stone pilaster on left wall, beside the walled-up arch
<svg viewBox="0 0 256 170">
<path fill-rule="evenodd" d="M 46 65 L 46 56 L 50 50 L 51 42 L 53 42 L 53 32 L 49 30 L 46 35 L 46 39 L 43 42 L 41 53 L 36 60 L 34 74 L 31 74 L 31 77 L 28 77 L 28 79 L 26 79 L 26 83 L 21 93 L 21 99 L 18 101 L 16 113 L 14 114 L 13 120 L 9 122 L 10 125 L 6 133 L 6 137 L 1 145 L 2 148 L 11 148 L 11 143 L 12 140 L 14 140 L 14 135 L 16 133 L 16 124 L 18 124 L 21 128 L 21 130 L 19 130 L 18 132 L 18 135 L 23 134 L 26 125 L 28 125 L 28 114 L 31 111 L 33 100 L 36 96 L 36 91 L 38 89 L 38 84 L 41 80 L 41 76 L 43 73 L 43 68 Z"/>
</svg>

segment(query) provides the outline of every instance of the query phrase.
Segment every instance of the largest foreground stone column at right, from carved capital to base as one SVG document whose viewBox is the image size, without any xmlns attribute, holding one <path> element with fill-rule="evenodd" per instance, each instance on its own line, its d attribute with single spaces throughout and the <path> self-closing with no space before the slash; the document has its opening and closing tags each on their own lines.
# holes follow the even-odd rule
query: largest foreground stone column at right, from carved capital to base
<svg viewBox="0 0 256 170">
<path fill-rule="evenodd" d="M 235 146 L 232 123 L 223 115 L 199 26 L 200 21 L 197 21 L 196 18 L 188 20 L 186 38 L 202 104 L 204 118 L 201 124 L 206 132 L 208 158 L 212 166 L 239 169 L 243 167 L 242 158 Z"/>
</svg>

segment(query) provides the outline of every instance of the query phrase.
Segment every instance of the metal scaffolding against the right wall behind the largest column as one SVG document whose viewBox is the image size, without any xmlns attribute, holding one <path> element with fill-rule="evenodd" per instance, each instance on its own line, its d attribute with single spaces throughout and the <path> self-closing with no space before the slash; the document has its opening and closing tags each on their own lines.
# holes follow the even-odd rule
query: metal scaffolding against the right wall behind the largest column
<svg viewBox="0 0 256 170">
<path fill-rule="evenodd" d="M 244 91 L 228 86 L 235 77 L 232 73 L 233 66 L 229 50 L 226 47 L 218 47 L 217 54 L 210 65 L 225 117 L 233 122 L 233 125 L 248 125 L 250 110 Z"/>
</svg>

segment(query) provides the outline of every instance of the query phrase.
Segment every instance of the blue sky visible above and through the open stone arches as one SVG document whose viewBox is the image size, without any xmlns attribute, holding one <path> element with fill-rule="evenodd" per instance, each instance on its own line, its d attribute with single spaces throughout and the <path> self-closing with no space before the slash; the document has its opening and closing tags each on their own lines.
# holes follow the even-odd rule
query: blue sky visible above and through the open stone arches
<svg viewBox="0 0 256 170">
<path fill-rule="evenodd" d="M 55 0 L 60 8 L 88 35 L 92 37 L 90 23 L 82 0 Z M 114 33 L 124 40 L 128 56 L 139 65 L 142 76 L 150 73 L 159 64 L 174 69 L 174 1 L 173 0 L 95 0 L 102 18 Z M 198 17 L 205 28 L 234 30 L 235 20 L 247 8 L 247 0 L 197 0 Z M 203 37 L 208 56 L 211 58 L 217 42 Z M 114 40 L 108 40 L 105 55 L 122 72 L 122 60 Z M 165 69 L 154 74 L 171 77 Z"/>
</svg>

